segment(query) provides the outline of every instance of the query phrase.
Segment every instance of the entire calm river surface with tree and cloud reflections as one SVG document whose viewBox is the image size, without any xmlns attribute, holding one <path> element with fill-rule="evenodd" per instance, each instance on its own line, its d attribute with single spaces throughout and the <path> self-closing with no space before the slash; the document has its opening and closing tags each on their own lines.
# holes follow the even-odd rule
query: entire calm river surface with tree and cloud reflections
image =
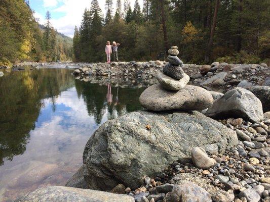
<svg viewBox="0 0 270 202">
<path fill-rule="evenodd" d="M 108 103 L 107 86 L 75 80 L 71 72 L 26 69 L 0 77 L 0 201 L 64 185 L 100 124 L 141 109 L 144 88 L 112 86 Z"/>
</svg>

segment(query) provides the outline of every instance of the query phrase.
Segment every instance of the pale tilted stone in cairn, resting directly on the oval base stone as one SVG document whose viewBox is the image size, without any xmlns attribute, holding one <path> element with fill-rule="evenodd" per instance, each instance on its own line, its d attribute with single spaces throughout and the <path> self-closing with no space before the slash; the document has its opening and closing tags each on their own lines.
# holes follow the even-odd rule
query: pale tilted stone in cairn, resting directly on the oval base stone
<svg viewBox="0 0 270 202">
<path fill-rule="evenodd" d="M 184 77 L 180 80 L 173 79 L 162 72 L 156 74 L 156 78 L 164 89 L 180 90 L 185 87 L 189 81 L 189 76 L 184 73 Z"/>
</svg>

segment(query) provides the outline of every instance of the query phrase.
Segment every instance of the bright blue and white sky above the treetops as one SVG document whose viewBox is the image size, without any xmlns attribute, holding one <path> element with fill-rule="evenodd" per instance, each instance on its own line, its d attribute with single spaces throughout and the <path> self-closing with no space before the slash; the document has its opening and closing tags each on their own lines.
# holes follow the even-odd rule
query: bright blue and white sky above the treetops
<svg viewBox="0 0 270 202">
<path fill-rule="evenodd" d="M 113 11 L 117 0 L 113 0 Z M 142 9 L 143 0 L 138 0 Z M 135 0 L 130 0 L 133 7 Z M 34 17 L 44 24 L 45 14 L 51 13 L 51 23 L 58 32 L 73 37 L 74 27 L 80 26 L 85 8 L 90 8 L 91 0 L 29 0 L 34 11 Z M 105 0 L 98 0 L 99 6 L 105 15 Z M 124 4 L 124 0 L 122 0 Z M 123 8 L 124 6 L 122 6 Z"/>
</svg>

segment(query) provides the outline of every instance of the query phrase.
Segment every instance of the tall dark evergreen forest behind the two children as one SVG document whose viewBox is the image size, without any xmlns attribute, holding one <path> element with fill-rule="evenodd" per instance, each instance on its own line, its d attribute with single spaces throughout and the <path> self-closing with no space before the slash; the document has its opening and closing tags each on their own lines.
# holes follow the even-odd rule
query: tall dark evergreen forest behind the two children
<svg viewBox="0 0 270 202">
<path fill-rule="evenodd" d="M 265 62 L 269 64 L 270 32 L 268 0 L 106 0 L 105 18 L 97 0 L 75 28 L 76 61 L 104 61 L 106 41 L 117 41 L 122 61 L 156 60 L 177 45 L 185 63 L 205 64 Z"/>
</svg>

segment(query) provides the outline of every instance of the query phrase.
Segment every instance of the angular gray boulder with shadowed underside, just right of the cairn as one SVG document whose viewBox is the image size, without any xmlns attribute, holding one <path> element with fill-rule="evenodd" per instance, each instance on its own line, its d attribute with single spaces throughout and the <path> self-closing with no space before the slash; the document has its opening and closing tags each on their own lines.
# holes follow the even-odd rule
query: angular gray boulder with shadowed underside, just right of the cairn
<svg viewBox="0 0 270 202">
<path fill-rule="evenodd" d="M 263 120 L 262 105 L 252 92 L 244 88 L 227 91 L 214 100 L 214 104 L 206 111 L 206 116 L 212 118 L 243 118 L 252 123 Z"/>
</svg>

